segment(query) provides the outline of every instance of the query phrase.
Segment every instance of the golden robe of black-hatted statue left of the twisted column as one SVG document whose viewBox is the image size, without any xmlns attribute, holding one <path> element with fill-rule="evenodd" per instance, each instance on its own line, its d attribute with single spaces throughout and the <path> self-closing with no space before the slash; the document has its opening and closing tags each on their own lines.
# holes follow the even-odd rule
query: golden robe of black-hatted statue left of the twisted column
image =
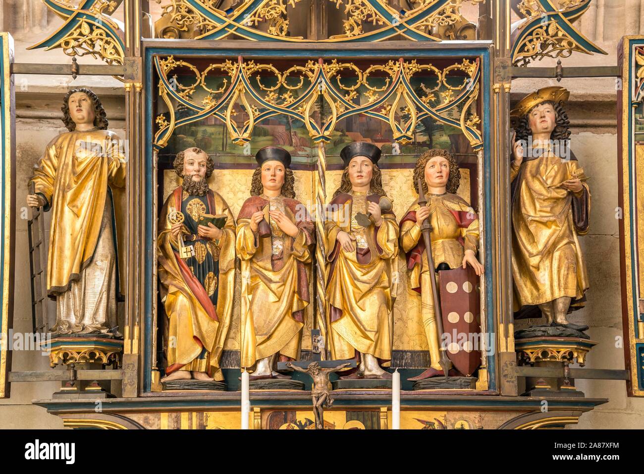
<svg viewBox="0 0 644 474">
<path fill-rule="evenodd" d="M 269 216 L 280 209 L 299 228 L 292 238 Z M 251 230 L 251 216 L 262 210 L 270 223 L 270 236 Z M 308 280 L 312 259 L 313 224 L 298 201 L 283 196 L 251 196 L 237 222 L 237 254 L 242 260 L 241 365 L 279 354 L 295 360 L 299 355 L 304 308 L 310 303 Z"/>
</svg>

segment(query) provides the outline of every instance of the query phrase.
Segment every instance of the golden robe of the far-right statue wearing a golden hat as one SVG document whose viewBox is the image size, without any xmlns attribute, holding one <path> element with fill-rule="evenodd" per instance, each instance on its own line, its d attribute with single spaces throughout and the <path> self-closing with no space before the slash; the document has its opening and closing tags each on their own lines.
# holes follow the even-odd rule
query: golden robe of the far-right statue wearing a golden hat
<svg viewBox="0 0 644 474">
<path fill-rule="evenodd" d="M 589 287 L 577 238 L 588 231 L 589 188 L 582 182 L 582 191 L 571 193 L 560 186 L 583 170 L 574 157 L 546 155 L 511 166 L 515 310 L 564 296 L 578 306 Z"/>
</svg>

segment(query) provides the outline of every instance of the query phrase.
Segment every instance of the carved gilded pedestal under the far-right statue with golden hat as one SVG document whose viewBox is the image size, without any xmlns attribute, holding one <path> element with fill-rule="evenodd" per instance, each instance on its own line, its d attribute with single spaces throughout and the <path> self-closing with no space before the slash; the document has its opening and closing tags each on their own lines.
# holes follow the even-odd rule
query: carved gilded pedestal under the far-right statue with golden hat
<svg viewBox="0 0 644 474">
<path fill-rule="evenodd" d="M 515 350 L 519 354 L 519 365 L 563 368 L 566 373 L 569 364 L 585 364 L 585 356 L 596 345 L 583 337 L 526 337 L 515 339 Z M 576 390 L 570 377 L 526 377 L 526 393 L 529 397 L 583 397 Z"/>
</svg>

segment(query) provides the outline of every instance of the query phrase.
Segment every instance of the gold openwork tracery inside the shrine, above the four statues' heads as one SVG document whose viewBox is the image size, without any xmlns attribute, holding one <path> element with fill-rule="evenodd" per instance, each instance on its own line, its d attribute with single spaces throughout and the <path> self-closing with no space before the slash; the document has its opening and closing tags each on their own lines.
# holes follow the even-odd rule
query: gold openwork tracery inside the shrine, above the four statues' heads
<svg viewBox="0 0 644 474">
<path fill-rule="evenodd" d="M 156 118 L 157 147 L 166 146 L 176 127 L 209 116 L 223 122 L 238 145 L 251 140 L 257 122 L 284 115 L 303 122 L 314 142 L 328 142 L 339 120 L 357 113 L 389 124 L 401 144 L 431 117 L 462 129 L 474 149 L 482 146 L 478 59 L 441 67 L 416 59 L 366 67 L 318 59 L 277 68 L 239 57 L 204 69 L 169 56 L 156 57 L 155 64 L 160 96 L 169 109 L 169 116 Z M 179 106 L 192 109 L 192 115 L 175 120 Z"/>
</svg>

